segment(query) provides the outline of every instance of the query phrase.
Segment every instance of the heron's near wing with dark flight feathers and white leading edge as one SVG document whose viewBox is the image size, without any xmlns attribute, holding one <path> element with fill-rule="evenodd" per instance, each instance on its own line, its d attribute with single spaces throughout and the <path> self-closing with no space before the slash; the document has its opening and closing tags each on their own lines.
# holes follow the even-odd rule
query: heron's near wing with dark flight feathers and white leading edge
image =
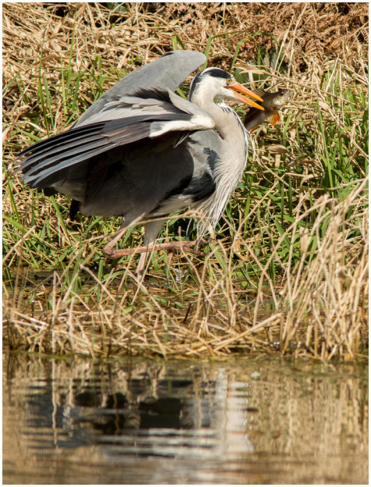
<svg viewBox="0 0 371 487">
<path fill-rule="evenodd" d="M 18 168 L 24 182 L 42 189 L 68 177 L 72 166 L 114 147 L 172 131 L 214 127 L 209 113 L 171 91 L 141 90 L 139 95 L 142 97 L 123 97 L 115 109 L 110 107 L 107 120 L 104 113 L 97 114 L 95 120 L 99 121 L 73 127 L 24 150 L 19 154 L 24 159 Z M 107 158 L 106 164 L 109 163 Z"/>
</svg>

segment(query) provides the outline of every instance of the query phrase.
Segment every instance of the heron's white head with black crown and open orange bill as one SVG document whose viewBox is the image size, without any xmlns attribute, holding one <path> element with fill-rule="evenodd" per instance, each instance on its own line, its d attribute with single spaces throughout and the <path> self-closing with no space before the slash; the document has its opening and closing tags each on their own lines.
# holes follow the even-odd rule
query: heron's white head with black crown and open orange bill
<svg viewBox="0 0 371 487">
<path fill-rule="evenodd" d="M 237 83 L 232 74 L 219 69 L 219 67 L 208 67 L 200 74 L 197 74 L 189 89 L 189 101 L 198 105 L 204 99 L 212 97 L 212 99 L 231 99 L 235 102 L 243 102 L 246 105 L 264 110 L 262 106 L 243 95 L 262 102 L 260 96 L 255 95 L 251 90 Z"/>
</svg>

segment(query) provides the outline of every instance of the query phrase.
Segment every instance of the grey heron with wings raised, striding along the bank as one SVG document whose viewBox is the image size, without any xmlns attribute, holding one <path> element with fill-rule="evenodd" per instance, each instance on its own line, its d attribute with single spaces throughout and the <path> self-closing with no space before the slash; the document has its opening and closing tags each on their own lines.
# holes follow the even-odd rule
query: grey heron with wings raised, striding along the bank
<svg viewBox="0 0 371 487">
<path fill-rule="evenodd" d="M 248 133 L 237 113 L 214 99 L 264 110 L 244 95 L 262 99 L 216 67 L 196 75 L 189 101 L 173 93 L 205 62 L 200 52 L 171 51 L 123 77 L 70 129 L 19 154 L 23 181 L 68 195 L 72 216 L 124 217 L 103 249 L 107 257 L 128 255 L 113 246 L 145 222 L 144 248 L 153 248 L 166 217 L 187 207 L 203 210 L 204 234 L 242 177 Z M 139 275 L 144 264 L 145 253 Z"/>
</svg>

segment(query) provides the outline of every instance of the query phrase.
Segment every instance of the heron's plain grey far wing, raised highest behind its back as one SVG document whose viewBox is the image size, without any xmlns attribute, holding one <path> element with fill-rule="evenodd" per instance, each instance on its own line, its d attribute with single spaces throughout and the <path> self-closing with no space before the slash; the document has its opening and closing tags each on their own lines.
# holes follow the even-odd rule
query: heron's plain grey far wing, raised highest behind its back
<svg viewBox="0 0 371 487">
<path fill-rule="evenodd" d="M 156 61 L 139 67 L 120 79 L 106 91 L 86 112 L 81 115 L 74 127 L 91 123 L 97 113 L 107 106 L 114 106 L 125 96 L 136 95 L 141 88 L 163 88 L 174 91 L 180 83 L 206 62 L 205 54 L 197 51 L 171 51 Z"/>
</svg>

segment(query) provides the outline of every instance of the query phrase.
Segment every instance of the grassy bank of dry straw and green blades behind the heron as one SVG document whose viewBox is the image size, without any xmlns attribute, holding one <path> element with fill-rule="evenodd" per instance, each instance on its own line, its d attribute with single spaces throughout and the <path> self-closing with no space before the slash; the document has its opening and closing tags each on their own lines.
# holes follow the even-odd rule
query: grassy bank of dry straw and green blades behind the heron
<svg viewBox="0 0 371 487">
<path fill-rule="evenodd" d="M 94 357 L 367 356 L 362 4 L 348 12 L 327 5 L 328 22 L 318 20 L 312 33 L 310 16 L 324 14 L 317 4 L 275 11 L 265 4 L 189 6 L 193 20 L 186 6 L 158 12 L 149 5 L 113 13 L 92 4 L 61 10 L 17 3 L 3 10 L 6 344 Z M 275 12 L 283 24 L 278 33 Z M 329 44 L 330 21 L 343 42 Z M 166 253 L 152 254 L 143 285 L 134 276 L 139 257 L 111 261 L 100 250 L 120 219 L 78 216 L 70 223 L 68 198 L 26 188 L 13 159 L 68 128 L 127 72 L 183 47 L 204 51 L 208 65 L 232 70 L 237 81 L 290 88 L 292 97 L 276 127 L 253 134 L 248 168 L 216 241 L 203 248 L 207 257 L 179 253 L 168 269 Z M 169 220 L 161 241 L 194 239 L 189 216 Z M 142 235 L 140 227 L 129 230 L 119 245 L 141 245 Z"/>
</svg>

